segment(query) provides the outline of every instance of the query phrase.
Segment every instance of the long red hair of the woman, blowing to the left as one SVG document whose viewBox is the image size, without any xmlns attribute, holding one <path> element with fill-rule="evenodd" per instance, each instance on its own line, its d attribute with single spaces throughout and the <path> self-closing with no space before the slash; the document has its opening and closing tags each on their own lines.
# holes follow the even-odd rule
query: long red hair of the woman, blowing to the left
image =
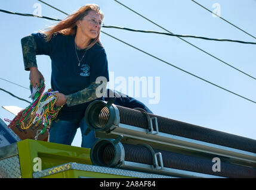
<svg viewBox="0 0 256 190">
<path fill-rule="evenodd" d="M 46 34 L 47 42 L 51 40 L 53 34 L 60 33 L 64 36 L 76 34 L 76 21 L 82 20 L 91 10 L 100 14 L 101 21 L 103 20 L 104 15 L 103 12 L 100 11 L 100 7 L 96 4 L 87 4 L 79 8 L 75 13 L 66 17 L 64 20 L 60 21 L 55 26 L 49 27 L 47 31 L 42 31 L 42 33 Z M 95 39 L 91 39 L 91 43 L 87 46 L 87 49 L 90 49 L 97 42 L 100 43 L 100 33 L 98 33 L 98 36 Z"/>
</svg>

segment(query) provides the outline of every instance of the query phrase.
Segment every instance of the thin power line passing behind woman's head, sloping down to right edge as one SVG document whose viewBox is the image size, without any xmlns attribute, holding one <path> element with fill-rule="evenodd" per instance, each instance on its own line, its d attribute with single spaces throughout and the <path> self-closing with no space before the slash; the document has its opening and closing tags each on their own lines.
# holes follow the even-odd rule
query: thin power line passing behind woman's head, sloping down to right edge
<svg viewBox="0 0 256 190">
<path fill-rule="evenodd" d="M 38 0 L 38 1 L 39 1 L 39 0 Z M 43 2 L 43 1 L 40 1 L 40 2 Z M 53 6 L 51 6 L 51 7 L 54 8 Z M 55 8 L 55 9 L 57 9 L 57 8 Z M 59 9 L 57 9 L 57 10 L 59 11 Z M 63 13 L 64 13 L 64 14 L 67 14 L 66 12 L 63 12 Z M 69 14 L 67 14 L 67 15 L 69 15 Z M 235 94 L 236 96 L 242 97 L 243 99 L 248 100 L 248 101 L 250 101 L 250 102 L 252 102 L 252 103 L 256 103 L 256 102 L 254 102 L 253 100 L 250 100 L 250 99 L 248 99 L 248 98 L 246 98 L 246 97 L 240 96 L 239 94 L 233 93 L 232 91 L 227 90 L 226 88 L 220 87 L 220 86 L 217 85 L 217 84 L 211 83 L 211 82 L 209 82 L 209 81 L 207 81 L 207 80 L 205 80 L 205 79 L 203 79 L 203 78 L 201 78 L 201 77 L 198 77 L 197 75 L 194 75 L 194 74 L 192 74 L 191 72 L 188 72 L 188 71 L 185 71 L 184 69 L 178 68 L 177 66 L 172 65 L 172 64 L 170 64 L 170 63 L 164 61 L 163 59 L 157 58 L 156 56 L 153 56 L 153 55 L 151 55 L 150 53 L 144 52 L 143 50 L 138 49 L 138 48 L 135 47 L 135 46 L 129 45 L 129 43 L 124 42 L 124 41 L 122 41 L 122 40 L 120 40 L 120 39 L 118 39 L 118 38 L 116 38 L 116 37 L 114 37 L 114 36 L 111 36 L 110 34 L 107 34 L 107 33 L 105 33 L 104 31 L 101 31 L 101 32 L 103 32 L 103 33 L 106 34 L 107 36 L 112 37 L 113 39 L 118 40 L 119 42 L 125 43 L 126 45 L 131 46 L 131 47 L 133 47 L 134 49 L 139 50 L 140 52 L 146 53 L 147 55 L 152 56 L 153 58 L 158 59 L 159 61 L 162 61 L 162 62 L 164 62 L 165 64 L 168 64 L 168 65 L 170 65 L 170 66 L 173 66 L 174 68 L 177 68 L 177 69 L 179 69 L 180 71 L 186 72 L 187 74 L 190 74 L 190 75 L 192 75 L 193 77 L 199 78 L 199 79 L 205 81 L 206 83 L 215 85 L 215 87 L 221 88 L 221 89 L 223 89 L 223 90 L 225 90 L 225 91 L 228 91 L 229 93 Z"/>
</svg>

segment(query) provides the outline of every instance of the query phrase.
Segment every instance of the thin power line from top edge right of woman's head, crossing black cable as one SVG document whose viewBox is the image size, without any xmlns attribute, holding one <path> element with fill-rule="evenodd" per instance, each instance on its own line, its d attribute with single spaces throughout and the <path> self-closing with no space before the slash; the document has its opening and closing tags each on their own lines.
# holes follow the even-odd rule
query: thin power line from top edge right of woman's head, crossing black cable
<svg viewBox="0 0 256 190">
<path fill-rule="evenodd" d="M 155 24 L 155 25 L 158 26 L 159 28 L 161 28 L 161 29 L 167 31 L 168 33 L 173 34 L 171 31 L 165 29 L 164 27 L 160 26 L 159 24 L 154 23 L 152 20 L 149 20 L 148 18 L 146 18 L 146 17 L 144 17 L 143 15 L 139 14 L 138 12 L 132 10 L 131 8 L 129 8 L 129 7 L 127 7 L 126 5 L 122 4 L 121 2 L 116 1 L 116 0 L 114 0 L 114 1 L 117 2 L 118 4 L 122 5 L 123 7 L 129 9 L 130 11 L 134 12 L 135 14 L 139 15 L 140 17 L 144 18 L 145 20 L 149 21 L 150 23 Z M 187 40 L 184 40 L 184 39 L 182 39 L 181 37 L 178 37 L 178 39 L 183 40 L 184 42 L 188 43 L 189 45 L 191 45 L 191 46 L 193 46 L 193 47 L 196 47 L 196 49 L 201 50 L 202 52 L 206 53 L 207 55 L 211 56 L 212 58 L 215 58 L 215 59 L 217 59 L 218 61 L 222 62 L 223 64 L 226 64 L 226 65 L 232 67 L 233 69 L 236 69 L 237 71 L 239 71 L 239 72 L 241 72 L 241 73 L 247 75 L 248 77 L 251 77 L 252 79 L 256 80 L 255 77 L 252 77 L 251 75 L 247 74 L 246 72 L 241 71 L 240 69 L 236 68 L 235 66 L 232 66 L 232 65 L 228 64 L 227 62 L 224 62 L 223 60 L 217 58 L 216 56 L 211 55 L 210 53 L 208 53 L 208 52 L 206 52 L 205 50 L 199 48 L 198 46 L 195 46 L 195 45 L 193 45 L 192 43 L 187 42 Z"/>
</svg>

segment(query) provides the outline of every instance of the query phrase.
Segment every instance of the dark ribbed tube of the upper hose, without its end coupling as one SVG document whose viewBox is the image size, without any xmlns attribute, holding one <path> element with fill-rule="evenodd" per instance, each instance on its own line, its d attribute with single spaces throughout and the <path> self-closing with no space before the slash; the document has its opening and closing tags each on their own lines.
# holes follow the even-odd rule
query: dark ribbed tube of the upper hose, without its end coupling
<svg viewBox="0 0 256 190">
<path fill-rule="evenodd" d="M 146 119 L 141 112 L 126 107 L 116 107 L 118 107 L 120 113 L 121 124 L 147 128 Z M 175 121 L 174 119 L 164 118 L 150 113 L 149 116 L 150 118 L 156 117 L 158 119 L 159 132 L 256 153 L 256 141 L 250 138 L 240 137 L 186 122 Z M 153 128 L 155 129 L 154 125 Z"/>
</svg>

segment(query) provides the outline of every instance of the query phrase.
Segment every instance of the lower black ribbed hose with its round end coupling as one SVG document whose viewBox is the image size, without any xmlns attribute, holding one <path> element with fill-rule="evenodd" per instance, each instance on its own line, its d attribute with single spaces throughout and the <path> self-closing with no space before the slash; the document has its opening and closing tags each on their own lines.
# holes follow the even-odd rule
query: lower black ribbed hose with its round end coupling
<svg viewBox="0 0 256 190">
<path fill-rule="evenodd" d="M 120 147 L 124 151 L 119 151 Z M 212 170 L 213 162 L 209 159 L 186 156 L 184 154 L 154 149 L 155 153 L 161 153 L 164 167 L 190 172 L 205 173 L 208 175 L 222 176 L 226 178 L 256 178 L 256 169 L 221 162 L 220 172 Z M 112 143 L 111 140 L 101 139 L 91 148 L 92 163 L 99 166 L 118 167 L 124 161 L 153 165 L 153 155 L 144 145 L 131 145 L 125 143 Z M 158 160 L 159 162 L 159 160 Z M 154 170 L 152 170 L 154 172 Z"/>
</svg>

